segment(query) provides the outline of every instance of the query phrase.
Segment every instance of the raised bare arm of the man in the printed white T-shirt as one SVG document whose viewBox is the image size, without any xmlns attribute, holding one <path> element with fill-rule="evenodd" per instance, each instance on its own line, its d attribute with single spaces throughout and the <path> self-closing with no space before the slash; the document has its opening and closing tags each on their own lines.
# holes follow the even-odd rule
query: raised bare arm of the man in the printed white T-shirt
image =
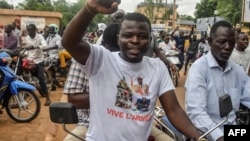
<svg viewBox="0 0 250 141">
<path fill-rule="evenodd" d="M 85 64 L 89 53 L 90 45 L 82 40 L 82 37 L 98 13 L 111 14 L 118 9 L 120 0 L 87 0 L 83 8 L 70 21 L 62 37 L 62 46 L 72 55 L 72 57 Z"/>
</svg>

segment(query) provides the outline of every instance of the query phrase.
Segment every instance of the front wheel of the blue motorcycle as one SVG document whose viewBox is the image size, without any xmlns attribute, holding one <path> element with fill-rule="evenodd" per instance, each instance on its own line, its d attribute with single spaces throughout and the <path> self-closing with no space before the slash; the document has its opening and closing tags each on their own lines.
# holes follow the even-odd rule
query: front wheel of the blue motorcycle
<svg viewBox="0 0 250 141">
<path fill-rule="evenodd" d="M 20 105 L 17 103 L 20 101 Z M 41 110 L 41 102 L 34 91 L 18 89 L 17 95 L 11 95 L 7 99 L 7 114 L 16 122 L 24 123 L 34 120 Z"/>
</svg>

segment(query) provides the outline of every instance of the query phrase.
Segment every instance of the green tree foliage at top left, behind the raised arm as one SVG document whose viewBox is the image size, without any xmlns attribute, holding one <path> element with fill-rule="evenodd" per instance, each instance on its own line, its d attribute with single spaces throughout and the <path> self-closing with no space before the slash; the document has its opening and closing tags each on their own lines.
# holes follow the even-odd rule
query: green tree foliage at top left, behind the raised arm
<svg viewBox="0 0 250 141">
<path fill-rule="evenodd" d="M 66 0 L 24 0 L 18 3 L 17 8 L 20 10 L 34 10 L 34 11 L 55 11 L 60 12 L 63 18 L 60 21 L 60 27 L 65 27 L 76 13 L 84 6 L 86 0 L 78 0 L 76 3 L 68 3 Z M 0 1 L 0 8 L 9 8 L 11 5 L 7 2 Z M 98 23 L 108 23 L 108 18 L 104 15 L 97 15 L 92 20 L 88 27 L 88 31 L 93 31 L 97 28 Z"/>
</svg>

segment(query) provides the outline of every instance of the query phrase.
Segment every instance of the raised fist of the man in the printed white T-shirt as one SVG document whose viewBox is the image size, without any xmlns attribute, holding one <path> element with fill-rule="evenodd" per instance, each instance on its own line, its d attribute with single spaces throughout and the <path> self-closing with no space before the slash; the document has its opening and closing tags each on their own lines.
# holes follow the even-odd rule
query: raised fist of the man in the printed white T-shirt
<svg viewBox="0 0 250 141">
<path fill-rule="evenodd" d="M 88 0 L 85 8 L 92 14 L 112 14 L 118 10 L 121 0 Z"/>
</svg>

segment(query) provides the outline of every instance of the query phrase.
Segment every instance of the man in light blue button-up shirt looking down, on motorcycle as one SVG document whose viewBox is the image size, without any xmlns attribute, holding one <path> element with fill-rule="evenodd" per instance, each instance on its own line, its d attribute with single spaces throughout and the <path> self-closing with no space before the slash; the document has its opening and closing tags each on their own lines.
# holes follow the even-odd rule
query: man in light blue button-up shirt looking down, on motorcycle
<svg viewBox="0 0 250 141">
<path fill-rule="evenodd" d="M 236 124 L 236 111 L 240 103 L 250 108 L 249 77 L 235 62 L 229 60 L 235 46 L 235 33 L 227 21 L 216 22 L 208 43 L 211 51 L 203 55 L 189 69 L 186 79 L 186 111 L 194 125 L 206 132 L 221 122 L 219 97 L 230 95 L 233 110 L 227 125 Z M 224 126 L 208 136 L 209 141 L 224 141 Z"/>
</svg>

